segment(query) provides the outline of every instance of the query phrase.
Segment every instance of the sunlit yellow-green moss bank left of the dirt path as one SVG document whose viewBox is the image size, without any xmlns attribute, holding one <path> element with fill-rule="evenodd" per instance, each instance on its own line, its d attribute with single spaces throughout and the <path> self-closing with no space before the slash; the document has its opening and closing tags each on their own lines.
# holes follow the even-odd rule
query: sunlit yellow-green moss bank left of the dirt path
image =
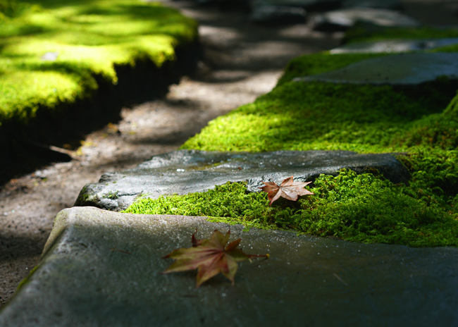
<svg viewBox="0 0 458 327">
<path fill-rule="evenodd" d="M 90 97 L 97 76 L 116 84 L 115 66 L 160 67 L 196 36 L 194 20 L 158 3 L 0 0 L 0 125 Z"/>
</svg>

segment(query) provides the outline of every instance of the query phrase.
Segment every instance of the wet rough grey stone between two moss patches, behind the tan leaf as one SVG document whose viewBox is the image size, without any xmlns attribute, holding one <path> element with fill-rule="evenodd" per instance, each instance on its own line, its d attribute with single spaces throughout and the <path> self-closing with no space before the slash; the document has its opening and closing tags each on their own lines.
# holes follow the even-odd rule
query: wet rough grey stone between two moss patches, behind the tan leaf
<svg viewBox="0 0 458 327">
<path fill-rule="evenodd" d="M 138 195 L 157 198 L 161 195 L 202 192 L 224 183 L 248 181 L 249 192 L 260 192 L 261 180 L 281 182 L 314 180 L 324 173 L 337 175 L 342 168 L 363 173 L 377 168 L 394 183 L 408 183 L 409 173 L 391 154 L 356 154 L 349 151 L 277 151 L 260 154 L 201 152 L 178 150 L 154 156 L 137 168 L 106 173 L 99 183 L 86 185 L 76 206 L 97 206 L 120 211 Z"/>
</svg>

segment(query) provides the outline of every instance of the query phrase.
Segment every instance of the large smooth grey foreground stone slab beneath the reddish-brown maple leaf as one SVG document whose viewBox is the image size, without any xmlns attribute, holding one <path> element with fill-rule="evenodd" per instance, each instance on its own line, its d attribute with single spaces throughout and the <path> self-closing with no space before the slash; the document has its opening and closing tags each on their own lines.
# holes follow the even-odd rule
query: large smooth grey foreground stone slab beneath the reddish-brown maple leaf
<svg viewBox="0 0 458 327">
<path fill-rule="evenodd" d="M 214 229 L 250 254 L 235 285 L 161 275 L 173 249 Z M 362 245 L 285 231 L 243 231 L 202 217 L 95 208 L 58 214 L 38 269 L 0 326 L 457 326 L 458 249 Z"/>
</svg>

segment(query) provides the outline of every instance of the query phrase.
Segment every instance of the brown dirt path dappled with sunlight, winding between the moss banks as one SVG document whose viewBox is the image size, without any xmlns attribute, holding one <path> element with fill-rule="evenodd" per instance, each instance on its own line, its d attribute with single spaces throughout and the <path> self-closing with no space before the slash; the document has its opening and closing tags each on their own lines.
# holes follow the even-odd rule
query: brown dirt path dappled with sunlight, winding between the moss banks
<svg viewBox="0 0 458 327">
<path fill-rule="evenodd" d="M 416 17 L 427 19 L 419 6 L 428 10 L 435 1 L 405 2 Z M 450 11 L 454 2 L 445 1 L 446 19 L 434 16 L 441 25 L 458 25 Z M 223 14 L 194 2 L 167 4 L 201 23 L 205 58 L 199 72 L 173 85 L 166 99 L 123 109 L 119 123 L 87 136 L 74 152 L 78 159 L 51 164 L 1 187 L 0 307 L 37 264 L 58 211 L 73 206 L 86 183 L 178 149 L 211 119 L 271 90 L 290 58 L 336 47 L 342 37 L 312 32 L 307 24 L 257 26 L 244 13 Z"/>
</svg>

